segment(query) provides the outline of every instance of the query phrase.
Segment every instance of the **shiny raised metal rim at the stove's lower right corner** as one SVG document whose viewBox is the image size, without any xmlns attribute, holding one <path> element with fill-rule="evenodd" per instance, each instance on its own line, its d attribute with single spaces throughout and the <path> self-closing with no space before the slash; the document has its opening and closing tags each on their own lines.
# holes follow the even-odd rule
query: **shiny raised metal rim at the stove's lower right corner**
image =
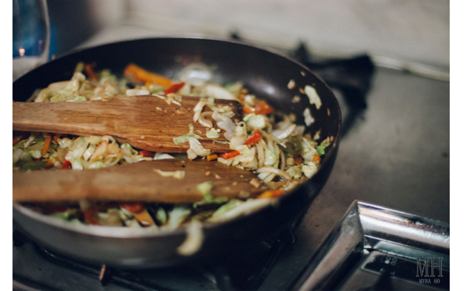
<svg viewBox="0 0 465 291">
<path fill-rule="evenodd" d="M 326 290 L 338 270 L 372 251 L 416 260 L 441 257 L 449 269 L 450 226 L 438 220 L 355 200 L 289 290 Z M 427 273 L 428 274 L 428 273 Z"/>
</svg>

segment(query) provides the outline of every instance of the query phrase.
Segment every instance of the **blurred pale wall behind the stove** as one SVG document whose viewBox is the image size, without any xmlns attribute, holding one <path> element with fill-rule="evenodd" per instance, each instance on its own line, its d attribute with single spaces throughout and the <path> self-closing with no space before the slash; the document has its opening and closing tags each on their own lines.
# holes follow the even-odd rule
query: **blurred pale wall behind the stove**
<svg viewBox="0 0 465 291">
<path fill-rule="evenodd" d="M 303 41 L 321 56 L 363 52 L 446 69 L 450 63 L 446 0 L 49 0 L 49 6 L 52 25 L 55 19 L 67 28 L 57 33 L 68 38 L 58 53 L 96 31 L 125 25 L 213 37 L 237 32 L 282 48 Z"/>
</svg>

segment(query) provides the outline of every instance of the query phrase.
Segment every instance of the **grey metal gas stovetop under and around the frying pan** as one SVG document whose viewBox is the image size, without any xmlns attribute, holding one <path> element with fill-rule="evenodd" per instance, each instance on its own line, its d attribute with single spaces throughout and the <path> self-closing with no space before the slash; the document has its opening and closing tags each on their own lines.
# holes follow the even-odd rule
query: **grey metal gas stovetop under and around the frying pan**
<svg viewBox="0 0 465 291">
<path fill-rule="evenodd" d="M 123 30 L 139 31 L 138 34 L 133 33 L 138 37 L 151 36 L 140 33 L 137 28 Z M 121 30 L 110 30 L 104 35 L 97 35 L 86 46 L 117 41 L 120 35 Z M 233 35 L 233 38 L 239 36 Z M 350 223 L 359 227 L 362 245 L 355 245 L 353 249 L 357 252 L 351 252 L 352 255 L 347 256 L 350 258 L 348 261 L 340 261 L 337 268 L 331 269 L 335 274 L 337 271 L 337 275 L 332 277 L 333 284 L 324 285 L 312 274 L 326 257 L 324 254 L 328 251 L 328 244 L 335 237 L 332 230 L 337 232 L 339 227 L 340 231 L 341 223 L 347 221 L 347 215 L 352 213 L 354 216 L 357 214 L 354 211 L 360 210 L 360 203 L 353 204 L 354 200 L 412 213 L 407 216 L 418 215 L 415 217 L 422 221 L 432 218 L 428 223 L 435 227 L 440 224 L 447 229 L 450 213 L 449 83 L 380 67 L 369 55 L 337 60 L 319 59 L 312 55 L 305 44 L 282 53 L 303 62 L 328 82 L 339 100 L 343 117 L 343 136 L 332 174 L 300 220 L 289 225 L 280 236 L 251 245 L 240 254 L 230 254 L 222 262 L 168 270 L 114 270 L 105 265 L 76 262 L 42 249 L 23 233 L 14 230 L 13 288 L 403 290 L 418 286 L 421 290 L 447 290 L 446 265 L 443 265 L 441 278 L 424 277 L 423 283 L 416 278 L 409 281 L 403 276 L 409 276 L 412 268 L 418 266 L 416 257 L 373 247 L 380 246 L 383 240 L 372 240 L 365 236 L 366 228 L 360 230 L 360 225 L 355 222 Z M 356 227 L 353 228 L 355 230 Z M 448 234 L 447 231 L 445 233 Z M 447 236 L 443 239 L 447 240 Z M 390 246 L 396 244 L 394 242 Z M 425 257 L 436 258 L 437 264 L 439 257 L 442 257 L 441 263 L 446 263 L 448 248 L 441 248 L 441 252 L 423 253 L 422 257 L 418 255 L 418 258 L 421 257 L 419 265 L 425 265 Z M 388 263 L 385 264 L 389 266 L 384 267 L 383 262 L 386 261 L 389 264 L 396 261 L 400 267 L 394 270 Z M 421 270 L 425 272 L 428 268 Z M 439 272 L 439 267 L 434 270 Z M 364 281 L 359 279 L 362 277 Z M 309 285 L 310 279 L 323 285 Z M 427 279 L 431 279 L 432 283 L 429 284 Z M 434 279 L 439 281 L 434 283 Z M 354 285 L 360 282 L 364 284 Z"/>
</svg>

